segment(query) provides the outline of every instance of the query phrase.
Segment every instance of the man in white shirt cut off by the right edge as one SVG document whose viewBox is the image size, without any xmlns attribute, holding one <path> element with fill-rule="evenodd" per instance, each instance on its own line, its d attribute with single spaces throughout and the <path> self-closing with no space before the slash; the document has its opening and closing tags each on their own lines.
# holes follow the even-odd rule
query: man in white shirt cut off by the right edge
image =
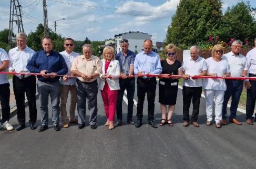
<svg viewBox="0 0 256 169">
<path fill-rule="evenodd" d="M 254 38 L 254 45 L 255 47 L 246 55 L 249 77 L 256 77 L 256 38 Z M 247 124 L 252 125 L 252 114 L 254 112 L 256 100 L 256 80 L 245 80 L 244 85 L 247 88 L 246 122 Z M 256 118 L 254 120 L 256 121 Z"/>
</svg>

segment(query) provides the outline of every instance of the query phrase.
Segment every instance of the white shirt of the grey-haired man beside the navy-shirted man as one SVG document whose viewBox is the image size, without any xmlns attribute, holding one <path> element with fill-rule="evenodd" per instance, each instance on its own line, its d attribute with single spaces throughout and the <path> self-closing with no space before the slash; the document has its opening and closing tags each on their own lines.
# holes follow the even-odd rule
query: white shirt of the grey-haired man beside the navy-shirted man
<svg viewBox="0 0 256 169">
<path fill-rule="evenodd" d="M 18 47 L 12 48 L 9 51 L 9 58 L 10 58 L 10 66 L 9 71 L 15 69 L 15 72 L 21 72 L 27 70 L 27 63 L 35 54 L 35 51 L 26 46 L 24 50 L 19 49 Z M 19 78 L 22 78 L 21 75 L 15 75 Z M 30 75 L 25 75 L 24 77 L 28 77 Z"/>
</svg>

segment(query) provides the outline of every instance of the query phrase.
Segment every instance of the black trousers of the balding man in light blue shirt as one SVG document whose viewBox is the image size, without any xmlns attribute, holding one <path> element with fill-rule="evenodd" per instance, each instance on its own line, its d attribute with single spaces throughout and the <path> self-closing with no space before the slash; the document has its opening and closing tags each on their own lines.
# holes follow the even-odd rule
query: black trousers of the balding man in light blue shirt
<svg viewBox="0 0 256 169">
<path fill-rule="evenodd" d="M 148 120 L 154 119 L 154 111 L 155 111 L 155 97 L 156 97 L 156 87 L 157 81 L 156 78 L 150 79 L 137 79 L 137 96 L 138 96 L 138 104 L 137 104 L 137 119 L 142 120 L 143 117 L 143 104 L 145 100 L 145 95 L 147 93 L 148 100 Z"/>
</svg>

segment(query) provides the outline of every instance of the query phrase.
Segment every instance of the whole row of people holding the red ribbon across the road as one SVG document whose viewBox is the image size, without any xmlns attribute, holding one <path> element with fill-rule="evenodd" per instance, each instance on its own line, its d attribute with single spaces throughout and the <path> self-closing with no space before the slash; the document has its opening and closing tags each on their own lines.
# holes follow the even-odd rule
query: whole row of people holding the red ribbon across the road
<svg viewBox="0 0 256 169">
<path fill-rule="evenodd" d="M 59 114 L 62 126 L 68 128 L 70 123 L 78 123 L 78 129 L 83 129 L 86 123 L 86 101 L 89 110 L 89 124 L 91 129 L 97 129 L 97 94 L 101 91 L 106 112 L 106 123 L 109 130 L 114 129 L 115 114 L 116 125 L 122 125 L 122 98 L 127 91 L 127 123 L 135 124 L 132 120 L 134 109 L 135 77 L 137 78 L 137 122 L 136 128 L 142 125 L 144 101 L 147 93 L 148 124 L 157 128 L 154 121 L 155 97 L 157 79 L 147 76 L 148 73 L 162 75 L 159 78 L 159 103 L 162 114 L 160 126 L 173 126 L 171 120 L 175 111 L 179 79 L 183 78 L 183 126 L 189 122 L 198 127 L 200 98 L 202 88 L 206 96 L 206 125 L 212 125 L 213 102 L 215 100 L 216 127 L 221 128 L 227 124 L 227 104 L 232 97 L 229 121 L 241 124 L 236 119 L 240 95 L 243 89 L 243 80 L 225 79 L 194 79 L 193 76 L 218 76 L 218 77 L 254 77 L 256 76 L 256 48 L 248 52 L 245 58 L 240 54 L 242 43 L 235 40 L 231 51 L 223 55 L 223 47 L 215 45 L 212 56 L 203 59 L 199 56 L 199 47 L 190 48 L 190 57 L 183 60 L 182 64 L 176 60 L 177 46 L 169 44 L 165 47 L 165 60 L 160 60 L 159 55 L 152 51 L 152 41 L 144 41 L 143 50 L 135 54 L 129 50 L 129 41 L 120 41 L 121 51 L 115 55 L 112 47 L 105 47 L 103 59 L 93 56 L 93 48 L 89 44 L 83 46 L 83 55 L 74 52 L 74 40 L 64 40 L 65 50 L 53 50 L 53 41 L 50 37 L 42 38 L 43 50 L 35 52 L 27 46 L 27 35 L 16 35 L 17 47 L 9 50 L 7 54 L 0 49 L 0 71 L 8 69 L 11 72 L 39 73 L 34 75 L 22 73 L 13 76 L 13 89 L 17 105 L 17 120 L 19 125 L 16 130 L 26 128 L 25 125 L 25 93 L 28 100 L 30 129 L 37 128 L 36 86 L 40 102 L 42 125 L 39 132 L 48 129 L 48 98 L 52 103 L 52 121 L 54 130 L 59 131 Z M 256 39 L 255 44 L 256 44 Z M 24 75 L 25 74 L 25 75 Z M 169 75 L 180 75 L 171 77 Z M 99 78 L 99 80 L 97 80 Z M 99 84 L 98 84 L 99 81 Z M 252 125 L 252 114 L 256 100 L 256 81 L 245 80 L 247 88 L 247 123 Z M 69 119 L 67 116 L 67 99 L 70 92 Z M 9 83 L 6 75 L 0 75 L 0 101 L 2 106 L 3 127 L 14 130 L 9 123 Z M 189 108 L 192 100 L 192 116 L 189 118 Z M 78 120 L 75 118 L 77 105 Z M 1 125 L 0 125 L 1 126 Z"/>
</svg>

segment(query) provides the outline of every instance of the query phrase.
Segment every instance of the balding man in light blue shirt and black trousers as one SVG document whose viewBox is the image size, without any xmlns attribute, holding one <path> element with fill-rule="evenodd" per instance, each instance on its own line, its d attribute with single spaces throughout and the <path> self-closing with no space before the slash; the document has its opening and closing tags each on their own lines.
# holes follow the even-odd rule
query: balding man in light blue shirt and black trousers
<svg viewBox="0 0 256 169">
<path fill-rule="evenodd" d="M 141 76 L 137 79 L 138 104 L 136 128 L 142 125 L 143 104 L 146 93 L 148 100 L 148 124 L 151 125 L 152 128 L 157 128 L 157 125 L 153 121 L 157 81 L 156 77 L 148 78 L 145 76 L 147 73 L 160 74 L 162 71 L 160 57 L 156 52 L 152 51 L 152 47 L 152 41 L 146 39 L 143 44 L 144 51 L 137 54 L 134 61 L 134 73 Z"/>
</svg>

